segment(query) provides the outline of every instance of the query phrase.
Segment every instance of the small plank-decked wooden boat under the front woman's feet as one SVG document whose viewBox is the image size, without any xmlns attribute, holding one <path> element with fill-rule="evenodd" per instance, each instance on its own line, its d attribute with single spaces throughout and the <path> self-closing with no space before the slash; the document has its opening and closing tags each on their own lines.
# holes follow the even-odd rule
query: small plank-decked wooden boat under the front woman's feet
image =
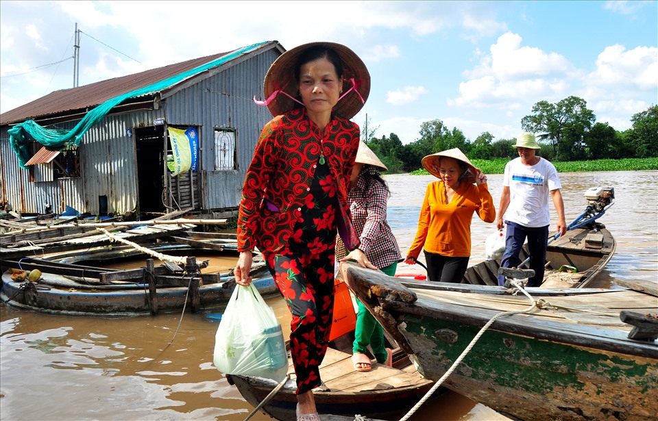
<svg viewBox="0 0 658 421">
<path fill-rule="evenodd" d="M 293 372 L 293 368 L 289 369 Z M 329 348 L 320 367 L 321 377 L 329 392 L 313 392 L 315 406 L 324 420 L 324 414 L 367 418 L 390 418 L 391 413 L 404 416 L 431 389 L 433 382 L 424 379 L 413 367 L 406 370 L 374 364 L 370 372 L 356 372 L 351 354 Z M 276 387 L 276 382 L 261 377 L 227 374 L 247 402 L 260 405 Z M 293 380 L 282 387 L 263 407 L 263 413 L 280 421 L 295 421 L 297 386 Z"/>
</svg>

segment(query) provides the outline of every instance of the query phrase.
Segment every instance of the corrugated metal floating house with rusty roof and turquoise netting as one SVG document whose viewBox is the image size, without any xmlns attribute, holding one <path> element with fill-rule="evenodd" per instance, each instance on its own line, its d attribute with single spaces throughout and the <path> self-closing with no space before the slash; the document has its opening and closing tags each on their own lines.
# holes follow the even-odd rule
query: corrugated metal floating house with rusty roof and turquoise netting
<svg viewBox="0 0 658 421">
<path fill-rule="evenodd" d="M 0 114 L 0 205 L 19 214 L 224 218 L 271 114 L 276 41 L 58 90 Z"/>
</svg>

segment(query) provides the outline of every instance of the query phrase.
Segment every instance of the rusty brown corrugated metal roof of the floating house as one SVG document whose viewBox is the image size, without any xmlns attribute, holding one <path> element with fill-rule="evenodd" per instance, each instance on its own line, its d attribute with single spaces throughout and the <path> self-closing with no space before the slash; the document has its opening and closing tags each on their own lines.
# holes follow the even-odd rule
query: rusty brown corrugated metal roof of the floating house
<svg viewBox="0 0 658 421">
<path fill-rule="evenodd" d="M 168 66 L 154 68 L 133 75 L 114 77 L 114 79 L 107 79 L 78 88 L 56 90 L 47 94 L 45 97 L 0 114 L 0 125 L 21 123 L 30 118 L 36 119 L 40 116 L 96 107 L 108 101 L 108 99 L 119 97 L 119 95 L 149 86 L 150 84 L 167 79 L 167 77 L 202 66 L 230 52 L 208 55 L 177 64 L 169 64 Z"/>
</svg>

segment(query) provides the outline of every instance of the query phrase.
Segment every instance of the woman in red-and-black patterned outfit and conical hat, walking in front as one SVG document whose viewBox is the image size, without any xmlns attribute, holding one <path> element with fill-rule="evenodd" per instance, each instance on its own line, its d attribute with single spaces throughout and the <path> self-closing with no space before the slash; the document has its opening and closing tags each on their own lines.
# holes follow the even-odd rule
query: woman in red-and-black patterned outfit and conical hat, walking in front
<svg viewBox="0 0 658 421">
<path fill-rule="evenodd" d="M 318 419 L 313 390 L 325 387 L 319 365 L 332 322 L 337 232 L 350 250 L 358 246 L 347 196 L 360 129 L 349 119 L 369 89 L 367 68 L 352 50 L 312 42 L 273 62 L 266 99 L 256 101 L 273 119 L 245 176 L 234 275 L 249 285 L 258 247 L 291 311 L 297 420 Z"/>
</svg>

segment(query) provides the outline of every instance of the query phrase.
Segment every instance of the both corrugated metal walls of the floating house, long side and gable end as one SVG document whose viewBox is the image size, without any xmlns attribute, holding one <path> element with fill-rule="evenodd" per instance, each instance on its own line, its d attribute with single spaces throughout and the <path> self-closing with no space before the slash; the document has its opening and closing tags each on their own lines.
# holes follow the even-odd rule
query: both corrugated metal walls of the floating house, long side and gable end
<svg viewBox="0 0 658 421">
<path fill-rule="evenodd" d="M 247 60 L 236 60 L 213 71 L 214 75 L 163 99 L 160 110 L 138 111 L 106 116 L 90 129 L 80 144 L 80 178 L 29 182 L 28 170 L 19 168 L 9 144 L 8 127 L 0 132 L 2 190 L 0 201 L 7 201 L 16 212 L 43 214 L 50 204 L 53 212 L 64 212 L 66 205 L 78 212 L 99 214 L 99 197 L 106 196 L 108 214 L 127 214 L 137 206 L 134 127 L 152 126 L 164 118 L 169 125 L 199 128 L 202 209 L 226 209 L 240 203 L 247 166 L 263 125 L 271 119 L 263 99 L 263 79 L 280 55 L 267 49 Z M 77 124 L 57 125 L 71 129 Z M 237 170 L 215 170 L 215 127 L 236 129 Z M 51 164 L 49 164 L 51 165 Z"/>
</svg>

